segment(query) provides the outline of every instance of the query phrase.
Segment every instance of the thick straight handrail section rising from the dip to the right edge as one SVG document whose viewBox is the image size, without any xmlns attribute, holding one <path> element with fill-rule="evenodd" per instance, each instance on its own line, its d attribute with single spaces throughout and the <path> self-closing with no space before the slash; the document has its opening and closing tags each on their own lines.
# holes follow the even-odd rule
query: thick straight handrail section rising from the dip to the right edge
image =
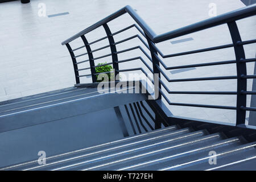
<svg viewBox="0 0 256 182">
<path fill-rule="evenodd" d="M 256 14 L 256 4 L 242 7 L 241 9 L 231 11 L 229 13 L 221 14 L 213 18 L 209 18 L 197 23 L 189 24 L 188 26 L 178 28 L 176 30 L 166 32 L 154 37 L 154 42 L 159 43 L 165 40 L 177 38 L 179 36 L 191 34 L 210 27 L 215 27 L 224 23 L 232 22 L 234 20 L 243 19 Z"/>
</svg>

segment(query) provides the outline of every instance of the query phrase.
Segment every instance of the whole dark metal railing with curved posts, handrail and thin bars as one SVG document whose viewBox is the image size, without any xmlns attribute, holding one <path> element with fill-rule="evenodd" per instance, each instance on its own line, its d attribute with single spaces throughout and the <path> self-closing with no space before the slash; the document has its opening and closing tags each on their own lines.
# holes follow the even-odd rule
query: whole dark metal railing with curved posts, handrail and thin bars
<svg viewBox="0 0 256 182">
<path fill-rule="evenodd" d="M 110 28 L 108 26 L 108 22 L 112 21 L 115 18 L 118 18 L 119 16 L 128 13 L 138 24 L 132 24 L 131 26 L 128 26 L 126 28 L 123 28 L 122 30 L 119 30 L 117 32 L 112 33 L 110 31 Z M 94 65 L 94 60 L 102 59 L 104 57 L 112 56 L 112 62 L 106 63 L 104 65 L 112 64 L 113 68 L 115 69 L 115 76 L 118 75 L 119 72 L 128 72 L 128 71 L 142 71 L 146 76 L 148 76 L 147 72 L 143 68 L 131 68 L 131 69 L 119 69 L 119 64 L 125 63 L 127 61 L 132 60 L 141 60 L 144 65 L 148 68 L 148 70 L 151 73 L 158 73 L 158 77 L 154 77 L 154 79 L 157 79 L 159 81 L 159 86 L 155 89 L 159 89 L 159 97 L 157 98 L 160 100 L 162 97 L 168 102 L 169 105 L 176 105 L 176 106 L 192 106 L 192 107 L 207 107 L 207 108 L 215 108 L 215 109 L 229 109 L 229 110 L 236 110 L 236 124 L 245 124 L 245 117 L 246 117 L 246 110 L 250 111 L 256 111 L 256 108 L 254 107 L 246 107 L 246 95 L 249 94 L 256 94 L 256 92 L 253 91 L 247 91 L 247 79 L 249 78 L 256 78 L 256 75 L 247 75 L 246 73 L 246 63 L 256 61 L 255 58 L 246 59 L 245 57 L 245 51 L 243 49 L 243 45 L 246 44 L 252 44 L 256 43 L 256 39 L 252 40 L 246 40 L 242 41 L 240 37 L 240 32 L 238 31 L 238 27 L 236 24 L 237 20 L 247 18 L 249 16 L 254 16 L 256 14 L 256 5 L 251 5 L 247 7 L 243 7 L 242 9 L 238 9 L 235 11 L 232 11 L 230 13 L 218 15 L 216 17 L 203 20 L 198 23 L 191 24 L 189 26 L 185 26 L 182 28 L 179 28 L 177 30 L 173 30 L 170 32 L 167 32 L 165 34 L 156 35 L 154 31 L 151 30 L 150 27 L 147 26 L 147 24 L 139 17 L 139 15 L 130 7 L 125 6 L 121 10 L 113 13 L 112 15 L 109 15 L 108 17 L 100 20 L 99 22 L 93 24 L 92 26 L 86 28 L 85 30 L 79 32 L 78 34 L 72 36 L 71 38 L 65 40 L 62 45 L 66 45 L 69 53 L 71 54 L 72 61 L 73 61 L 73 67 L 75 70 L 75 77 L 76 77 L 76 83 L 80 83 L 80 77 L 84 76 L 92 76 L 92 81 L 96 82 L 96 73 L 95 68 L 98 67 Z M 170 55 L 164 55 L 160 49 L 156 46 L 156 43 L 164 42 L 166 40 L 170 40 L 173 38 L 177 38 L 179 36 L 191 34 L 193 32 L 205 30 L 207 28 L 219 26 L 221 24 L 227 24 L 229 28 L 229 32 L 232 38 L 231 44 L 225 44 L 222 46 L 215 46 L 215 47 L 209 47 L 209 48 L 203 48 L 203 49 L 196 49 L 192 51 L 187 52 L 180 52 L 180 53 L 172 53 Z M 85 35 L 88 34 L 88 32 L 95 30 L 98 27 L 104 27 L 104 30 L 106 32 L 106 36 L 103 38 L 97 39 L 91 43 L 88 43 L 88 41 L 85 38 Z M 135 27 L 140 34 L 143 36 L 143 38 L 137 34 L 134 36 L 131 36 L 130 38 L 123 39 L 119 42 L 114 42 L 113 36 L 120 34 L 123 31 L 129 30 L 130 28 Z M 69 43 L 71 43 L 73 40 L 81 38 L 82 42 L 84 43 L 84 46 L 72 49 L 71 46 L 69 46 Z M 117 51 L 116 45 L 125 43 L 128 40 L 138 38 L 141 40 L 143 45 L 150 51 L 151 55 L 148 55 L 148 53 L 144 50 L 141 46 L 136 46 L 132 48 L 123 49 L 121 51 Z M 146 42 L 143 40 L 146 38 Z M 97 48 L 92 50 L 90 48 L 90 45 L 100 42 L 101 40 L 108 39 L 109 45 L 104 46 L 101 48 Z M 75 56 L 75 51 L 86 48 L 86 53 L 82 53 L 80 55 Z M 105 48 L 110 48 L 111 53 L 107 55 L 103 55 L 100 57 L 93 57 L 93 52 L 100 51 Z M 200 64 L 189 64 L 189 65 L 180 65 L 175 67 L 167 67 L 167 65 L 164 63 L 162 59 L 168 58 L 168 57 L 176 57 L 176 56 L 182 56 L 182 55 L 191 55 L 193 53 L 200 53 L 200 52 L 207 52 L 207 51 L 213 51 L 217 49 L 224 49 L 224 48 L 234 48 L 234 53 L 236 55 L 236 60 L 226 60 L 226 61 L 216 61 L 213 63 L 200 63 Z M 128 52 L 134 49 L 140 49 L 141 52 L 148 58 L 148 60 L 151 61 L 151 65 L 148 65 L 146 61 L 141 57 L 133 57 L 126 60 L 118 60 L 118 54 L 123 52 Z M 76 58 L 80 56 L 88 55 L 89 59 L 77 62 Z M 162 57 L 162 59 L 160 58 Z M 80 63 L 85 63 L 89 61 L 90 67 L 88 68 L 81 68 L 78 69 L 77 65 Z M 196 77 L 196 78 L 179 78 L 179 79 L 171 79 L 167 76 L 166 72 L 161 68 L 163 67 L 166 70 L 171 69 L 179 69 L 179 68 L 191 68 L 191 67 L 206 67 L 211 65 L 224 65 L 224 64 L 236 64 L 237 73 L 236 75 L 232 76 L 216 76 L 216 77 Z M 102 66 L 102 65 L 100 65 Z M 85 69 L 90 69 L 91 73 L 88 75 L 80 75 L 79 72 L 83 71 Z M 107 72 L 109 73 L 109 72 Z M 166 84 L 164 84 L 163 80 L 161 79 L 161 76 L 166 78 L 168 82 L 185 82 L 185 81 L 203 81 L 203 80 L 229 80 L 229 79 L 236 79 L 237 80 L 237 91 L 236 92 L 207 92 L 207 91 L 171 91 Z M 151 80 L 153 83 L 156 80 Z M 236 106 L 221 106 L 221 105 L 202 105 L 202 104 L 187 104 L 187 103 L 175 103 L 171 102 L 166 94 L 164 94 L 163 89 L 167 91 L 169 94 L 220 94 L 220 95 L 236 95 L 237 96 L 237 103 Z"/>
</svg>

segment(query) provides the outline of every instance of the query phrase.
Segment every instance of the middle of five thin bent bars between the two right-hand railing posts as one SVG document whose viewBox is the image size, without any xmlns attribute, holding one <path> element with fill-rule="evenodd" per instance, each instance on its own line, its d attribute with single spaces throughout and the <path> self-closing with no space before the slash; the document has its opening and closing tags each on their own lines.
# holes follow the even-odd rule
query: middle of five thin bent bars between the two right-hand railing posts
<svg viewBox="0 0 256 182">
<path fill-rule="evenodd" d="M 237 79 L 237 76 L 217 76 L 217 77 L 201 77 L 201 78 L 181 78 L 181 79 L 170 79 L 166 73 L 156 65 L 156 68 L 163 74 L 168 82 L 179 82 L 179 81 L 204 81 L 204 80 L 228 80 L 228 79 Z"/>
</svg>

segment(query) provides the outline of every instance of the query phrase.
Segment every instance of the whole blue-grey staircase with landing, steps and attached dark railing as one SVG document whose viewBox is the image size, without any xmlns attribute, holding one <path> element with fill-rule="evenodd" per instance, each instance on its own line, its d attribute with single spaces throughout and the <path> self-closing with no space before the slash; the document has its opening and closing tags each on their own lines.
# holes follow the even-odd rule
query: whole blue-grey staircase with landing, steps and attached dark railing
<svg viewBox="0 0 256 182">
<path fill-rule="evenodd" d="M 138 25 L 132 24 L 112 33 L 108 23 L 125 13 Z M 243 45 L 256 43 L 256 39 L 241 40 L 236 24 L 237 20 L 255 14 L 256 5 L 251 5 L 166 34 L 156 35 L 130 6 L 126 6 L 65 40 L 62 44 L 68 48 L 75 72 L 74 87 L 0 102 L 0 169 L 256 170 L 256 128 L 247 125 L 245 120 L 246 111 L 256 111 L 255 107 L 246 105 L 246 96 L 256 94 L 255 91 L 246 90 L 247 79 L 256 78 L 256 75 L 247 75 L 246 63 L 254 62 L 256 59 L 246 59 L 243 50 Z M 230 44 L 169 55 L 164 55 L 156 46 L 157 43 L 222 24 L 227 24 L 229 28 L 232 38 Z M 88 42 L 85 35 L 101 26 L 106 36 Z M 139 34 L 114 42 L 114 35 L 130 28 L 136 28 Z M 73 40 L 80 38 L 84 45 L 72 48 Z M 142 42 L 143 47 L 135 46 L 117 51 L 118 44 L 135 38 Z M 108 39 L 109 45 L 93 50 L 90 48 L 90 45 L 104 39 Z M 230 47 L 234 48 L 236 60 L 174 67 L 167 67 L 162 60 Z M 87 52 L 77 55 L 76 51 L 82 51 L 82 48 Z M 111 53 L 93 57 L 94 52 L 105 48 L 110 48 Z M 143 56 L 128 57 L 134 56 L 129 54 L 127 59 L 118 60 L 119 53 L 134 49 L 139 49 Z M 88 59 L 77 61 L 77 57 L 82 56 L 88 56 Z M 109 56 L 112 60 L 108 63 L 95 65 L 95 60 Z M 145 57 L 147 60 L 144 60 Z M 143 67 L 119 68 L 119 64 L 134 60 L 141 61 Z M 89 63 L 89 67 L 85 67 L 84 63 Z M 104 73 L 114 73 L 117 78 L 113 81 L 114 86 L 122 83 L 119 81 L 118 73 L 133 71 L 142 72 L 147 76 L 146 85 L 143 80 L 138 80 L 139 88 L 106 88 L 107 93 L 98 92 L 96 78 L 100 73 L 96 73 L 96 68 L 110 64 L 113 65 L 114 71 Z M 236 64 L 237 72 L 233 76 L 178 79 L 170 78 L 166 74 L 166 71 L 172 69 L 223 64 Z M 86 74 L 86 71 L 90 73 Z M 154 75 L 150 76 L 151 73 Z M 92 77 L 92 84 L 81 83 L 82 77 Z M 163 79 L 167 82 L 235 79 L 237 90 L 173 91 Z M 153 88 L 148 88 L 148 82 L 154 84 Z M 141 92 L 145 88 L 147 92 Z M 119 93 L 122 90 L 133 92 Z M 135 90 L 139 90 L 139 93 L 134 93 Z M 172 102 L 167 94 L 234 95 L 237 97 L 237 103 L 235 106 L 178 103 Z M 148 98 L 149 95 L 152 100 Z M 236 123 L 175 116 L 166 104 L 235 110 Z M 42 150 L 47 154 L 46 164 L 39 164 L 38 161 L 38 151 Z"/>
</svg>

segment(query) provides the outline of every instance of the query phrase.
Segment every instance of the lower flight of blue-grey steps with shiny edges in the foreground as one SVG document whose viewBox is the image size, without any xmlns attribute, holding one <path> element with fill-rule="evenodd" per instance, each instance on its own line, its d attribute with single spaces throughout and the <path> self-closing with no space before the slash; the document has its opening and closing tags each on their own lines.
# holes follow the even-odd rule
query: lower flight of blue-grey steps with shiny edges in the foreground
<svg viewBox="0 0 256 182">
<path fill-rule="evenodd" d="M 256 160 L 256 142 L 170 126 L 97 146 L 2 168 L 5 170 L 221 170 Z M 216 152 L 216 164 L 209 164 Z M 247 167 L 248 169 L 248 167 Z M 256 169 L 250 165 L 249 169 Z"/>
</svg>

